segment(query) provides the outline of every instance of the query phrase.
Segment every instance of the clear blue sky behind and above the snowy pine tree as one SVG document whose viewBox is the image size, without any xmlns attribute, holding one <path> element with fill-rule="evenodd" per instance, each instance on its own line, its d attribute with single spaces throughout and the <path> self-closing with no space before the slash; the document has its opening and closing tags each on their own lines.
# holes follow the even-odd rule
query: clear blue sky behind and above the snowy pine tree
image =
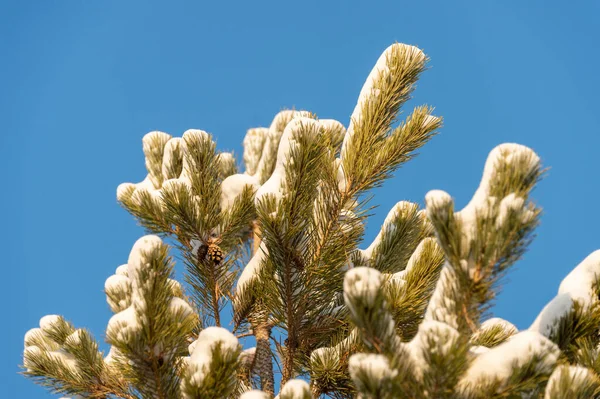
<svg viewBox="0 0 600 399">
<path fill-rule="evenodd" d="M 377 190 L 366 238 L 430 189 L 465 205 L 494 146 L 532 147 L 551 167 L 534 192 L 542 224 L 494 308 L 526 328 L 600 248 L 600 6 L 578 4 L 1 2 L 4 396 L 50 397 L 16 375 L 41 316 L 102 339 L 104 280 L 142 235 L 115 189 L 144 177 L 145 133 L 203 129 L 239 154 L 246 129 L 283 107 L 347 124 L 394 41 L 431 57 L 409 105 L 435 106 L 445 127 Z"/>
</svg>

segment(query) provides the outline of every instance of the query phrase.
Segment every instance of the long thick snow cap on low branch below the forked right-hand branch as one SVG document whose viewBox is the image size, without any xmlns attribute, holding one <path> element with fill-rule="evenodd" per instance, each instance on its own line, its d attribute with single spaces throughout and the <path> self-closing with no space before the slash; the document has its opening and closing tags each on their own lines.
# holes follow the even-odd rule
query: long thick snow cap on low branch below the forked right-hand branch
<svg viewBox="0 0 600 399">
<path fill-rule="evenodd" d="M 506 381 L 515 367 L 521 367 L 539 357 L 537 371 L 549 371 L 556 363 L 560 350 L 548 338 L 535 331 L 523 331 L 506 342 L 477 356 L 463 376 L 461 384 L 474 384 L 481 379 Z"/>
</svg>

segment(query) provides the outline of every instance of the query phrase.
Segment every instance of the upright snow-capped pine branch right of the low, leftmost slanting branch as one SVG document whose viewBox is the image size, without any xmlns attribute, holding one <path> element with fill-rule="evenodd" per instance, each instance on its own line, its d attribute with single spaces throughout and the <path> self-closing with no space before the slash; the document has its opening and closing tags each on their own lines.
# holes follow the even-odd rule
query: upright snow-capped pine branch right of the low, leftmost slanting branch
<svg viewBox="0 0 600 399">
<path fill-rule="evenodd" d="M 109 321 L 107 341 L 118 350 L 114 367 L 145 397 L 176 398 L 179 357 L 197 318 L 173 295 L 173 263 L 156 236 L 134 245 L 127 267 L 131 305 Z"/>
</svg>

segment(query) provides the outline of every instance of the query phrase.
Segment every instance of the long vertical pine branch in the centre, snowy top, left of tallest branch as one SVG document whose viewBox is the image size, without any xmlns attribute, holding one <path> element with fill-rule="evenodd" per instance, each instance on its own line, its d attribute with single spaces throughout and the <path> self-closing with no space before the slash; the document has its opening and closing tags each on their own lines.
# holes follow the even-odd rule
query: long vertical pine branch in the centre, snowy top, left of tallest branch
<svg viewBox="0 0 600 399">
<path fill-rule="evenodd" d="M 282 377 L 284 383 L 294 373 L 301 342 L 300 320 L 307 308 L 306 299 L 302 299 L 305 273 L 302 259 L 305 258 L 303 253 L 308 249 L 307 221 L 312 218 L 315 192 L 327 149 L 318 140 L 319 125 L 315 121 L 295 121 L 296 123 L 290 124 L 284 133 L 289 152 L 286 154 L 280 151 L 278 159 L 278 165 L 286 165 L 285 175 L 281 175 L 279 183 L 273 180 L 273 183 L 266 184 L 281 184 L 286 195 L 277 202 L 276 217 L 272 217 L 271 211 L 274 203 L 269 204 L 268 201 L 259 199 L 257 206 L 262 239 L 269 252 L 280 295 L 280 299 L 267 303 L 267 306 L 287 333 Z M 287 140 L 290 140 L 289 144 Z M 277 169 L 274 176 L 275 173 L 279 173 Z"/>
</svg>

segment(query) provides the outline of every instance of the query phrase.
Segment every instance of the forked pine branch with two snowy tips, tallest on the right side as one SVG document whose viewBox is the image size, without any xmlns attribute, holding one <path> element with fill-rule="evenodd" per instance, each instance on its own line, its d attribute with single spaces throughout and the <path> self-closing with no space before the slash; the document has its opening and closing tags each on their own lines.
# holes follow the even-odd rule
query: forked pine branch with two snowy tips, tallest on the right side
<svg viewBox="0 0 600 399">
<path fill-rule="evenodd" d="M 533 239 L 540 210 L 528 196 L 541 175 L 533 151 L 506 144 L 490 153 L 477 192 L 460 212 L 454 212 L 448 194 L 427 194 L 427 214 L 448 262 L 436 306 L 447 308 L 445 314 L 455 319 L 451 323 L 460 331 L 478 330 L 502 277 Z M 443 297 L 450 299 L 446 305 L 440 302 Z M 448 317 L 429 314 L 449 322 Z"/>
</svg>

